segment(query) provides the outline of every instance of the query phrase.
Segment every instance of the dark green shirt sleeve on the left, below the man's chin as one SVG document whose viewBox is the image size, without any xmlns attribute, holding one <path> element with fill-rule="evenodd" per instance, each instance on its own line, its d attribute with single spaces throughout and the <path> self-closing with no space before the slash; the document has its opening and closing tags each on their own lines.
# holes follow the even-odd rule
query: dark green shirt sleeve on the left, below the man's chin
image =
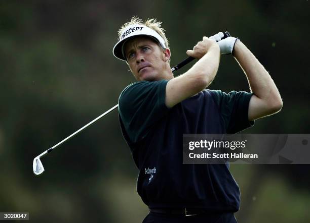
<svg viewBox="0 0 310 223">
<path fill-rule="evenodd" d="M 139 81 L 126 87 L 119 97 L 119 115 L 132 143 L 143 139 L 169 108 L 166 106 L 167 80 Z"/>
</svg>

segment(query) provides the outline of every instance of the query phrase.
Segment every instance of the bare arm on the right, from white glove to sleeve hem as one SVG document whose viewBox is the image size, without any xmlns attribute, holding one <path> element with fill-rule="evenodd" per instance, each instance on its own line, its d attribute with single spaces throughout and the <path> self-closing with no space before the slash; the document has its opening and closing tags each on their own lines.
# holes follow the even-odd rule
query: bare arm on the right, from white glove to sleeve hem
<svg viewBox="0 0 310 223">
<path fill-rule="evenodd" d="M 253 92 L 249 102 L 249 120 L 272 115 L 281 110 L 283 102 L 276 84 L 253 53 L 237 39 L 234 57 L 248 78 Z"/>
</svg>

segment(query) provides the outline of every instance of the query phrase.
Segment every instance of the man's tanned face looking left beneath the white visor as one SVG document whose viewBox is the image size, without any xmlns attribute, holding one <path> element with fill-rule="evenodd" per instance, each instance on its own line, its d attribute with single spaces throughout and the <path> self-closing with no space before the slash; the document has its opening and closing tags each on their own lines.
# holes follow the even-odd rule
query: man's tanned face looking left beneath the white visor
<svg viewBox="0 0 310 223">
<path fill-rule="evenodd" d="M 125 44 L 124 53 L 130 71 L 137 81 L 158 81 L 167 73 L 169 49 L 163 48 L 152 38 L 137 36 Z M 169 65 L 169 64 L 168 64 Z M 170 67 L 169 67 L 170 68 Z"/>
</svg>

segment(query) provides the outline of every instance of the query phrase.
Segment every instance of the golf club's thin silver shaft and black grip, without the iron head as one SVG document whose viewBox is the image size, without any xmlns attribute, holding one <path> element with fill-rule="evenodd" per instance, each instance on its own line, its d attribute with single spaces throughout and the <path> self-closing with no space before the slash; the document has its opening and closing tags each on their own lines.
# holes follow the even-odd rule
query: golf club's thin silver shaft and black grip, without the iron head
<svg viewBox="0 0 310 223">
<path fill-rule="evenodd" d="M 227 38 L 229 35 L 229 33 L 226 31 L 224 32 L 224 38 Z M 176 65 L 175 67 L 173 67 L 171 69 L 172 72 L 179 70 L 180 68 L 184 67 L 186 64 L 188 64 L 189 62 L 193 61 L 195 58 L 192 57 L 188 57 L 185 60 L 183 60 L 181 63 L 179 63 L 178 65 Z M 103 113 L 101 116 L 97 117 L 96 119 L 94 119 L 93 121 L 91 121 L 90 123 L 88 123 L 86 126 L 82 127 L 81 129 L 79 129 L 78 131 L 72 133 L 71 135 L 69 135 L 67 138 L 63 139 L 62 141 L 60 141 L 59 143 L 57 143 L 56 145 L 54 145 L 53 147 L 49 148 L 48 150 L 46 150 L 45 152 L 41 153 L 39 155 L 39 157 L 43 157 L 46 154 L 48 154 L 49 152 L 51 152 L 53 149 L 55 149 L 56 147 L 58 147 L 59 145 L 61 145 L 62 143 L 64 143 L 65 141 L 69 140 L 70 138 L 74 137 L 76 134 L 79 134 L 80 132 L 82 132 L 83 130 L 85 130 L 86 128 L 90 127 L 92 124 L 94 124 L 95 122 L 97 122 L 98 120 L 100 120 L 102 117 L 104 117 L 105 115 L 109 114 L 110 112 L 112 112 L 112 110 L 118 108 L 119 104 L 114 105 L 113 107 L 111 107 L 110 109 L 108 109 L 105 113 Z"/>
</svg>

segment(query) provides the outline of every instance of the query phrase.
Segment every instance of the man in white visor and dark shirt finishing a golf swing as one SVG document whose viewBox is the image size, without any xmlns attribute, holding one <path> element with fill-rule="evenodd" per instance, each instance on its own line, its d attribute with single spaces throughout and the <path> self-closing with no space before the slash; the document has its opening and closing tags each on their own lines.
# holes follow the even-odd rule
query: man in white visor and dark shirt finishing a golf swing
<svg viewBox="0 0 310 223">
<path fill-rule="evenodd" d="M 121 27 L 113 48 L 136 79 L 119 97 L 119 121 L 140 171 L 138 194 L 149 208 L 143 222 L 237 222 L 240 190 L 229 166 L 182 164 L 182 134 L 240 132 L 279 112 L 281 96 L 251 51 L 238 38 L 221 39 L 223 33 L 203 37 L 187 50 L 198 61 L 174 77 L 160 25 L 134 17 Z M 251 92 L 206 89 L 220 54 L 234 55 Z"/>
</svg>

